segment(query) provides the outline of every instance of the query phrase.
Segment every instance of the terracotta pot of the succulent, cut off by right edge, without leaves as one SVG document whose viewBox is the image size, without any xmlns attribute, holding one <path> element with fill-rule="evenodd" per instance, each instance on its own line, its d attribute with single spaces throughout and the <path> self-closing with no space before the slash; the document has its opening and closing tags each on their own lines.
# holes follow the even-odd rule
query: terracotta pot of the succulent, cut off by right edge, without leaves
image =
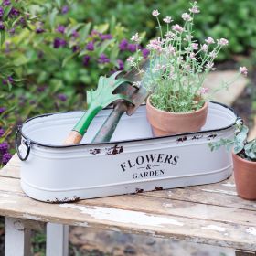
<svg viewBox="0 0 256 256">
<path fill-rule="evenodd" d="M 244 199 L 256 200 L 256 162 L 232 154 L 235 183 L 238 195 Z"/>
</svg>

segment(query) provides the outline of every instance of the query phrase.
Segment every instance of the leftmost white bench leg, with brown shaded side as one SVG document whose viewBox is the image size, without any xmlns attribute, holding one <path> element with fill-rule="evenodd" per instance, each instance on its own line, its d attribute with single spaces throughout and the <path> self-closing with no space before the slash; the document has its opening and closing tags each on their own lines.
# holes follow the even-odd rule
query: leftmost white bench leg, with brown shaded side
<svg viewBox="0 0 256 256">
<path fill-rule="evenodd" d="M 26 221 L 5 217 L 5 256 L 31 255 L 30 234 Z"/>
</svg>

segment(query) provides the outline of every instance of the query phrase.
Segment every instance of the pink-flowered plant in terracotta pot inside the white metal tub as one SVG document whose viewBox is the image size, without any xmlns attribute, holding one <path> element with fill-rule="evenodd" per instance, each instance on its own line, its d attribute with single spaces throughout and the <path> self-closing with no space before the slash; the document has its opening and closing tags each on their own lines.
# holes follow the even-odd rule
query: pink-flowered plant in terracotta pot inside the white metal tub
<svg viewBox="0 0 256 256">
<path fill-rule="evenodd" d="M 229 43 L 225 38 L 207 37 L 199 44 L 194 38 L 194 16 L 199 8 L 197 2 L 190 5 L 189 11 L 182 15 L 183 27 L 172 25 L 170 16 L 163 19 L 165 27 L 162 27 L 160 13 L 154 10 L 152 15 L 161 37 L 150 40 L 143 50 L 137 48 L 136 55 L 127 59 L 138 72 L 143 72 L 139 64 L 147 55 L 149 69 L 143 83 L 151 95 L 146 112 L 156 136 L 197 132 L 206 123 L 210 93 L 203 84 L 208 72 L 214 69 L 219 51 Z M 139 45 L 142 38 L 136 33 L 131 39 Z M 240 73 L 246 75 L 247 69 L 241 67 Z M 220 88 L 228 88 L 233 81 L 225 82 Z"/>
</svg>

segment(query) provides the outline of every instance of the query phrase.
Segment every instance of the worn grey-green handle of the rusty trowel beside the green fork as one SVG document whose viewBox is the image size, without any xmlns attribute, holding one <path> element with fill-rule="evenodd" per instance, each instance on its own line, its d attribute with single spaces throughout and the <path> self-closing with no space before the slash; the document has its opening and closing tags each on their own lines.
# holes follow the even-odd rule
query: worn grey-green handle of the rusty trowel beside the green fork
<svg viewBox="0 0 256 256">
<path fill-rule="evenodd" d="M 106 121 L 102 124 L 100 131 L 95 135 L 93 143 L 109 142 L 112 138 L 112 134 L 115 131 L 117 124 L 120 121 L 123 113 L 127 111 L 127 104 L 124 101 L 116 104 L 111 114 Z"/>
</svg>

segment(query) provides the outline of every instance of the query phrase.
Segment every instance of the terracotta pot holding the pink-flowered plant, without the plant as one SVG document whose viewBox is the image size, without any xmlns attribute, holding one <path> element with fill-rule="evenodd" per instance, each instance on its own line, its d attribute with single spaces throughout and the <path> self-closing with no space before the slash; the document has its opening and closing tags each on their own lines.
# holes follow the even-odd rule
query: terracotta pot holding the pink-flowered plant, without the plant
<svg viewBox="0 0 256 256">
<path fill-rule="evenodd" d="M 149 97 L 146 101 L 146 115 L 155 136 L 197 132 L 206 123 L 208 102 L 205 102 L 203 107 L 195 112 L 176 113 L 156 109 Z"/>
</svg>

